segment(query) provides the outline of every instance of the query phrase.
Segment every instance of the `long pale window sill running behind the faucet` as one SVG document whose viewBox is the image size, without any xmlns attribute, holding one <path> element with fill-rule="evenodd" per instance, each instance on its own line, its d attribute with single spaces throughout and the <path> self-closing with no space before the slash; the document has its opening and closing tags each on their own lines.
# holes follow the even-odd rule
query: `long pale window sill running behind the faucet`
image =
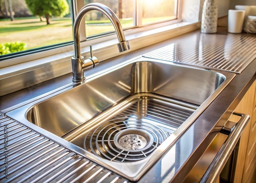
<svg viewBox="0 0 256 183">
<path fill-rule="evenodd" d="M 181 22 L 153 30 L 136 31 L 135 33 L 133 29 L 127 30 L 125 31 L 125 38 L 129 40 L 131 46 L 128 52 L 162 42 L 199 28 L 200 23 L 191 24 Z M 82 42 L 82 55 L 85 58 L 89 57 L 90 44 L 93 45 L 93 54 L 99 59 L 99 62 L 127 53 L 127 51 L 122 53 L 118 52 L 116 46 L 118 40 L 116 35 L 111 35 L 110 38 L 110 40 L 103 40 L 100 43 L 95 43 L 95 39 Z M 102 37 L 102 39 L 106 38 Z M 52 55 L 43 57 L 45 53 L 41 52 L 39 54 L 37 53 L 37 56 L 41 55 L 41 58 L 38 59 L 33 59 L 35 55 L 29 55 L 2 61 L 2 67 L 8 64 L 8 62 L 12 62 L 13 65 L 0 69 L 0 96 L 72 72 L 71 57 L 74 55 L 73 45 L 47 52 L 51 52 Z M 28 58 L 32 58 L 33 60 L 30 59 L 26 62 Z M 20 60 L 23 60 L 23 63 L 15 64 L 15 62 L 20 62 Z"/>
</svg>

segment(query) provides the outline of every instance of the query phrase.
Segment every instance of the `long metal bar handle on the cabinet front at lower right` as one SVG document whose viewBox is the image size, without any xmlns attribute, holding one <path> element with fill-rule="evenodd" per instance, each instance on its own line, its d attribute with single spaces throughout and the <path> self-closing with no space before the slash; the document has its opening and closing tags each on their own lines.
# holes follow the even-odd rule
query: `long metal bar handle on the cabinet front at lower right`
<svg viewBox="0 0 256 183">
<path fill-rule="evenodd" d="M 241 119 L 238 121 L 238 123 L 227 121 L 226 124 L 223 126 L 220 132 L 227 134 L 228 137 L 200 182 L 216 182 L 217 177 L 220 175 L 244 128 L 250 120 L 250 116 L 247 114 L 237 112 L 233 112 L 233 114 L 241 116 Z"/>
</svg>

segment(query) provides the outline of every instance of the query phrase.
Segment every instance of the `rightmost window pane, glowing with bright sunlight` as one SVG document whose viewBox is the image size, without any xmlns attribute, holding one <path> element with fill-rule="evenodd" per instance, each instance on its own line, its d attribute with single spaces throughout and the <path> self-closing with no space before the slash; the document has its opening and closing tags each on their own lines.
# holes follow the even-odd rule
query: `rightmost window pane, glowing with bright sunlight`
<svg viewBox="0 0 256 183">
<path fill-rule="evenodd" d="M 177 18 L 177 0 L 143 0 L 142 25 Z"/>
</svg>

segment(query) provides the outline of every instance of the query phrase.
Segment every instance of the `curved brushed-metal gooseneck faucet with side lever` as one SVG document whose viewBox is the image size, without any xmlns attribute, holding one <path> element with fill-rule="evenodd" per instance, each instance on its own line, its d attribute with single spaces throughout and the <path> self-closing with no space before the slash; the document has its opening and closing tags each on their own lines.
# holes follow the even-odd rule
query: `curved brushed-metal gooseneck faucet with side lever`
<svg viewBox="0 0 256 183">
<path fill-rule="evenodd" d="M 77 14 L 73 34 L 74 34 L 74 46 L 75 46 L 75 56 L 71 58 L 72 62 L 72 72 L 73 72 L 73 82 L 81 82 L 84 80 L 83 70 L 88 68 L 94 68 L 95 65 L 99 63 L 98 59 L 92 54 L 92 46 L 90 45 L 90 53 L 91 57 L 84 60 L 83 56 L 81 56 L 80 51 L 80 36 L 79 36 L 79 28 L 84 15 L 86 15 L 91 10 L 98 10 L 104 13 L 113 24 L 117 38 L 119 43 L 117 44 L 119 52 L 123 52 L 130 49 L 129 42 L 125 40 L 122 26 L 119 22 L 119 19 L 115 15 L 115 13 L 107 6 L 100 3 L 91 3 L 84 6 Z"/>
</svg>

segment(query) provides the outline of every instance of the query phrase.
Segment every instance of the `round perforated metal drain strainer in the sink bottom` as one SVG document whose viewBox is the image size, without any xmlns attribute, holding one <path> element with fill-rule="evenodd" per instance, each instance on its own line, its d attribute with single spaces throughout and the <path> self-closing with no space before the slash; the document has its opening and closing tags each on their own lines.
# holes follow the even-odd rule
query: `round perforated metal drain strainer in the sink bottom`
<svg viewBox="0 0 256 183">
<path fill-rule="evenodd" d="M 144 130 L 125 129 L 115 135 L 114 143 L 121 150 L 143 151 L 153 145 L 154 137 Z"/>
</svg>

